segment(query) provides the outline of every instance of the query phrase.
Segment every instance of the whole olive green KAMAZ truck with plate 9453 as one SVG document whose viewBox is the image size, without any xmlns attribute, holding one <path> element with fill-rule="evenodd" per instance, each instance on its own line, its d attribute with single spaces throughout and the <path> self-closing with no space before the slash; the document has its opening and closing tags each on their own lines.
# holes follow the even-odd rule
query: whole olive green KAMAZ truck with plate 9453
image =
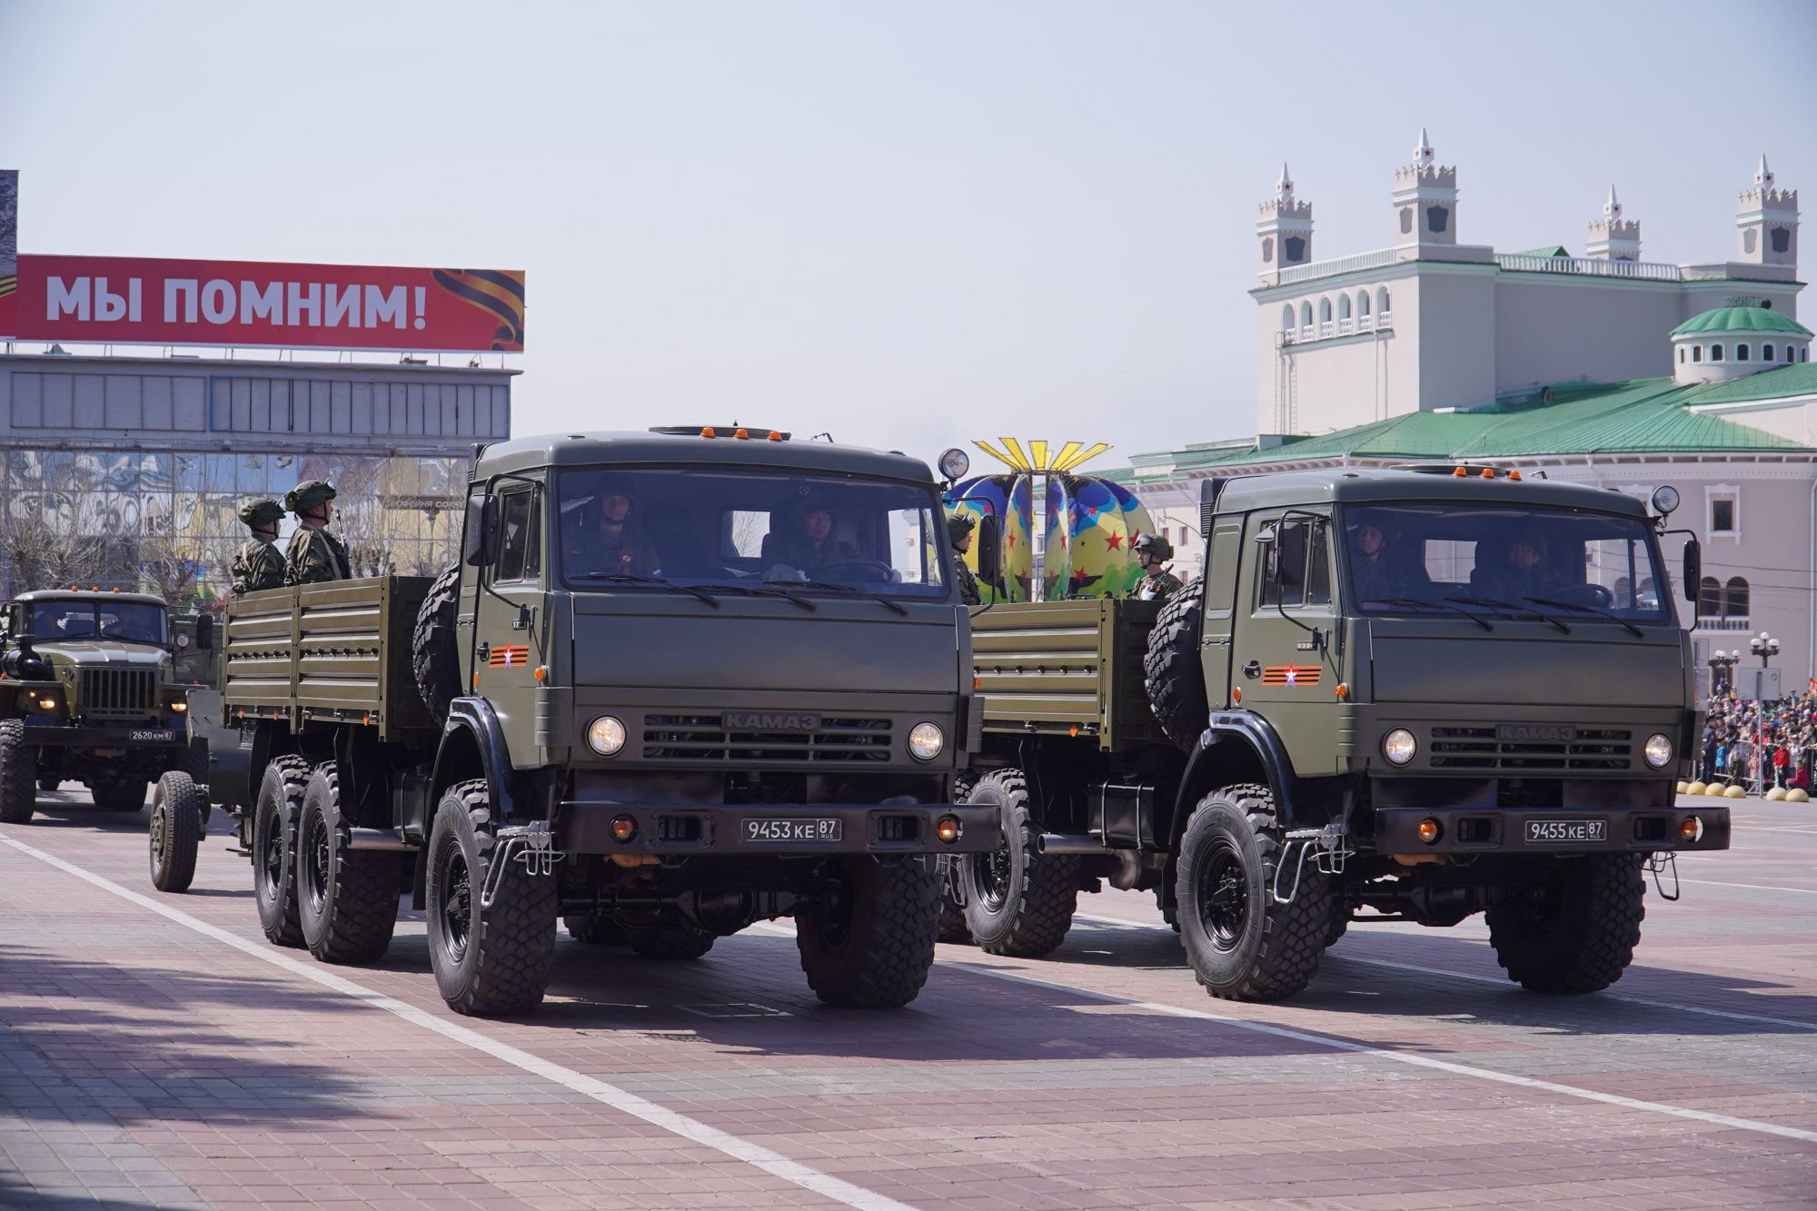
<svg viewBox="0 0 1817 1211">
<path fill-rule="evenodd" d="M 558 920 L 698 958 L 794 916 L 823 1002 L 914 1000 L 934 856 L 998 842 L 952 802 L 978 716 L 939 491 L 769 431 L 512 440 L 434 582 L 233 600 L 209 796 L 265 935 L 371 962 L 407 893 L 447 1004 L 514 1015 Z"/>
</svg>

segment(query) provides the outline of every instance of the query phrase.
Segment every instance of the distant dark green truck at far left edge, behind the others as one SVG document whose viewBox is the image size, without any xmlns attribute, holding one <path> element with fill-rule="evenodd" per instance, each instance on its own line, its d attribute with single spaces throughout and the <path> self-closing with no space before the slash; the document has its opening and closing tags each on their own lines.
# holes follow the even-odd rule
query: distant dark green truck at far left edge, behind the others
<svg viewBox="0 0 1817 1211">
<path fill-rule="evenodd" d="M 38 791 L 64 782 L 138 811 L 165 771 L 202 771 L 164 598 L 42 589 L 7 602 L 0 627 L 0 822 L 31 820 Z M 193 638 L 213 644 L 213 629 Z"/>
</svg>

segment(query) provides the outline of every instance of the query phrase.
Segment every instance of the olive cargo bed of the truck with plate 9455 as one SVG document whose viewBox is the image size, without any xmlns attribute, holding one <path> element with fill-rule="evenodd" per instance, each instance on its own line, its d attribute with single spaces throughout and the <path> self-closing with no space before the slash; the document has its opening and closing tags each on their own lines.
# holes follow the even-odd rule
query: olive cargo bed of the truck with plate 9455
<svg viewBox="0 0 1817 1211">
<path fill-rule="evenodd" d="M 1092 598 L 974 615 L 985 731 L 1094 736 L 1101 749 L 1165 744 L 1141 667 L 1159 613 L 1159 602 Z"/>
</svg>

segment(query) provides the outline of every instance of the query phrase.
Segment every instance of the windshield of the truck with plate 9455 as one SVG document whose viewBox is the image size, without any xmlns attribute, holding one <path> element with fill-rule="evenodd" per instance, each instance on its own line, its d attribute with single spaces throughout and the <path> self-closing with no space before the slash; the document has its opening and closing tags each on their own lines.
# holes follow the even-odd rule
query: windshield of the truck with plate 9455
<svg viewBox="0 0 1817 1211">
<path fill-rule="evenodd" d="M 1566 611 L 1670 622 L 1668 582 L 1639 518 L 1575 509 L 1350 505 L 1343 513 L 1350 604 L 1368 615 L 1423 609 Z M 1575 622 L 1575 618 L 1574 618 Z"/>
</svg>

